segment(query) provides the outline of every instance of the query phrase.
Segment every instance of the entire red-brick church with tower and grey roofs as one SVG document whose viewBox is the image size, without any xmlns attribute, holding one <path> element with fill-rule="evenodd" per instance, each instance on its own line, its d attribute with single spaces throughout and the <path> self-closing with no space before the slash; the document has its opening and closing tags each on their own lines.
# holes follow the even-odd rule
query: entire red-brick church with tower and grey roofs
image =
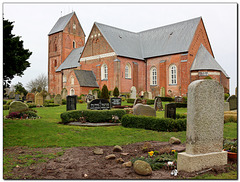
<svg viewBox="0 0 240 182">
<path fill-rule="evenodd" d="M 188 85 L 211 77 L 229 92 L 229 76 L 214 58 L 201 17 L 142 32 L 95 22 L 85 33 L 72 12 L 48 34 L 48 92 L 87 94 L 104 84 L 153 97 L 185 96 Z"/>
</svg>

